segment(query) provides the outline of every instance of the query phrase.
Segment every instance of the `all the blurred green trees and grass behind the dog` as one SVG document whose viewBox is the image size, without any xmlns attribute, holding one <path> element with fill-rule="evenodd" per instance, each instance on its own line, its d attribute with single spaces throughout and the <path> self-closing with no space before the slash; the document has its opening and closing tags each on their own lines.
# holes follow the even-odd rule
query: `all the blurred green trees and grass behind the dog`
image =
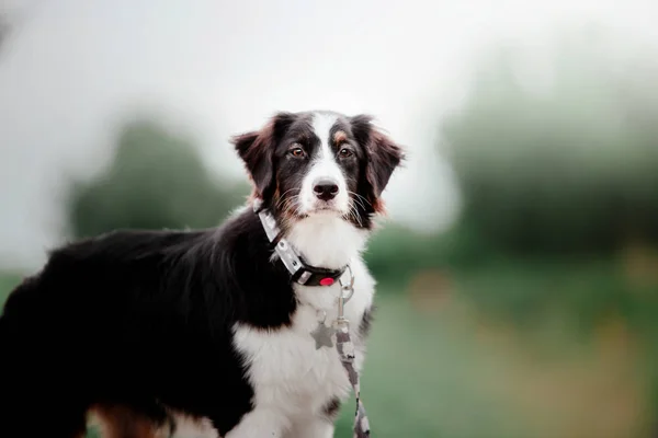
<svg viewBox="0 0 658 438">
<path fill-rule="evenodd" d="M 533 48 L 492 43 L 461 107 L 431 122 L 461 207 L 436 232 L 393 215 L 365 255 L 375 437 L 658 436 L 658 57 L 613 43 L 560 34 L 540 90 L 518 74 Z M 63 239 L 212 227 L 249 192 L 156 115 L 127 117 L 110 150 L 61 176 Z M 4 270 L 0 300 L 25 274 Z"/>
</svg>

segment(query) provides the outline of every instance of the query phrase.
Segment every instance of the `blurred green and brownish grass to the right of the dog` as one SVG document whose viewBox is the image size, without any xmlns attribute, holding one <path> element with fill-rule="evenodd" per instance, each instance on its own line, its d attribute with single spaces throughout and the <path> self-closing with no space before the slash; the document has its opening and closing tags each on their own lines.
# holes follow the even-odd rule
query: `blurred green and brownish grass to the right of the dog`
<svg viewBox="0 0 658 438">
<path fill-rule="evenodd" d="M 651 418 L 638 413 L 656 387 L 656 284 L 629 286 L 611 261 L 502 262 L 452 280 L 458 303 L 424 315 L 378 297 L 362 382 L 375 437 L 628 437 Z M 608 435 L 587 419 L 597 410 Z"/>
</svg>

